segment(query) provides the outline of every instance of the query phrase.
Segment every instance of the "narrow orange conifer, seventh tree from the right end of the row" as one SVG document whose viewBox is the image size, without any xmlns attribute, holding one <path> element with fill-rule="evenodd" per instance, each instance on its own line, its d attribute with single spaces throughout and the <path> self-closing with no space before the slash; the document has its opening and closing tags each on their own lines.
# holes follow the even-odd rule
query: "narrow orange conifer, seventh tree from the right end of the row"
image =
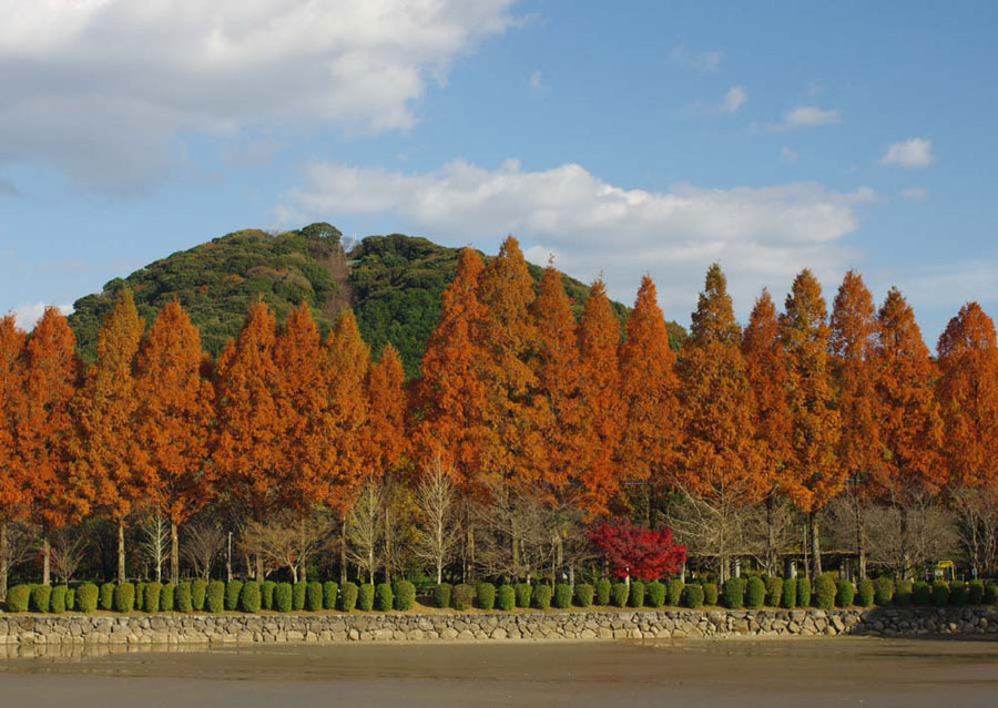
<svg viewBox="0 0 998 708">
<path fill-rule="evenodd" d="M 620 472 L 644 494 L 646 525 L 654 521 L 654 492 L 672 486 L 680 444 L 679 380 L 665 317 L 648 276 L 628 318 L 620 346 L 620 409 L 625 412 L 618 450 Z M 633 494 L 632 494 L 633 496 Z"/>
</svg>

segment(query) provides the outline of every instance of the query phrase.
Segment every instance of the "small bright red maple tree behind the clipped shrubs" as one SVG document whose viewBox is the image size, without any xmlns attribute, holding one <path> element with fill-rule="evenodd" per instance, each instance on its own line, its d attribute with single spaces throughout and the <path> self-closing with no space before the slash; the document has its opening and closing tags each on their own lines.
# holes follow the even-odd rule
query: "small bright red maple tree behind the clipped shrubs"
<svg viewBox="0 0 998 708">
<path fill-rule="evenodd" d="M 686 546 L 673 542 L 671 529 L 650 530 L 629 520 L 603 522 L 589 531 L 589 540 L 603 553 L 613 577 L 654 581 L 679 573 Z"/>
</svg>

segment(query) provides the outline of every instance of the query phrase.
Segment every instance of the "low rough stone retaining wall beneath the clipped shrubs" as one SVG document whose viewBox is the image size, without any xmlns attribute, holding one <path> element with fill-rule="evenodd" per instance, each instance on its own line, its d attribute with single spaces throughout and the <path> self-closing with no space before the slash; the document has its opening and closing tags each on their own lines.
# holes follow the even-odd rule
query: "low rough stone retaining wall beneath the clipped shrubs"
<svg viewBox="0 0 998 708">
<path fill-rule="evenodd" d="M 0 617 L 2 645 L 998 635 L 998 609 L 712 609 L 434 615 Z"/>
</svg>

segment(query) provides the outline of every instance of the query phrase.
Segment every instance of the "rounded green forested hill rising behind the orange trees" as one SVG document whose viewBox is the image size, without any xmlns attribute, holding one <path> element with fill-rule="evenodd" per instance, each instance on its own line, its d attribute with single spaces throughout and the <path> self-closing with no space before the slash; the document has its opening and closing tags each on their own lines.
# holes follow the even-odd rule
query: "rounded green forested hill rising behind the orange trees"
<svg viewBox="0 0 998 708">
<path fill-rule="evenodd" d="M 426 238 L 391 234 L 369 236 L 346 254 L 342 234 L 329 224 L 276 235 L 235 232 L 111 280 L 102 293 L 77 300 L 70 324 L 80 353 L 92 359 L 100 322 L 114 293 L 128 285 L 147 322 L 179 298 L 201 329 L 205 348 L 217 355 L 238 334 L 257 298 L 276 311 L 278 321 L 307 300 L 324 334 L 349 305 L 375 355 L 390 341 L 414 376 L 440 315 L 440 295 L 454 279 L 458 253 Z M 540 279 L 541 268 L 530 269 Z M 589 288 L 568 277 L 566 288 L 581 309 Z M 615 308 L 625 319 L 628 309 L 619 304 Z M 670 322 L 674 347 L 684 336 Z"/>
</svg>

